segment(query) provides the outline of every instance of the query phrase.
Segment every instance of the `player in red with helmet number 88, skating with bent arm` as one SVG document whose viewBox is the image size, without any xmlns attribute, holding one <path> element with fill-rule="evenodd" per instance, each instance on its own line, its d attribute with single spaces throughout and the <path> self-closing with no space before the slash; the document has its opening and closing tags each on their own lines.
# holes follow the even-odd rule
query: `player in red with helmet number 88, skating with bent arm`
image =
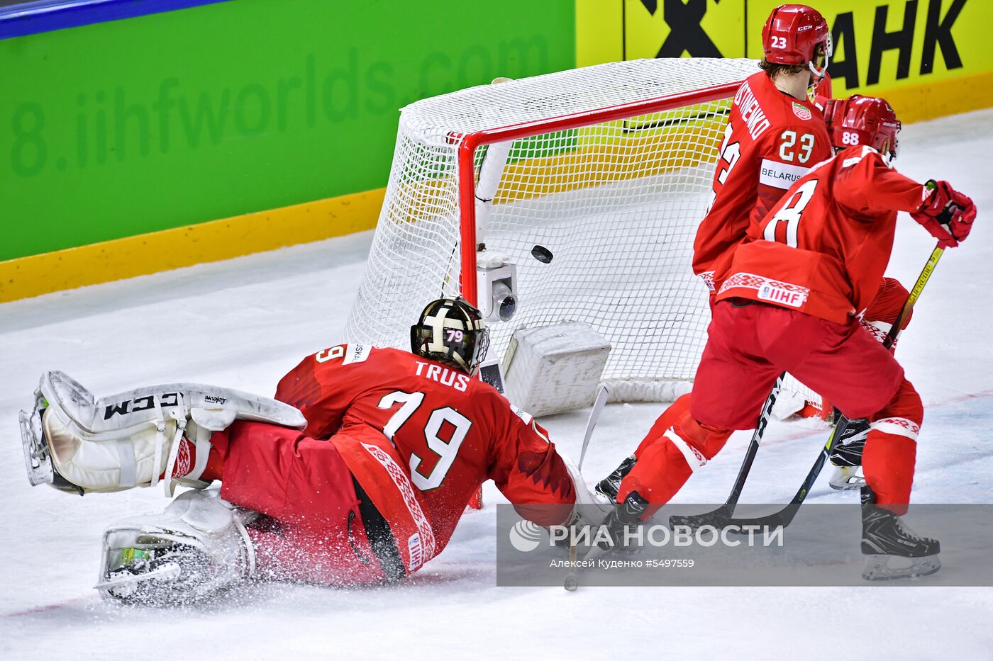
<svg viewBox="0 0 993 661">
<path fill-rule="evenodd" d="M 938 543 L 914 535 L 899 516 L 910 501 L 921 398 L 858 320 L 879 289 L 898 210 L 942 247 L 968 236 L 976 210 L 946 182 L 925 186 L 891 168 L 900 122 L 886 101 L 853 96 L 830 112 L 840 151 L 752 222 L 750 240 L 715 275 L 714 319 L 693 391 L 641 442 L 617 495 L 625 507 L 611 516 L 635 523 L 668 502 L 732 430 L 754 427 L 773 383 L 789 371 L 848 418 L 871 423 L 863 553 L 916 557 L 919 573 L 936 571 Z"/>
</svg>

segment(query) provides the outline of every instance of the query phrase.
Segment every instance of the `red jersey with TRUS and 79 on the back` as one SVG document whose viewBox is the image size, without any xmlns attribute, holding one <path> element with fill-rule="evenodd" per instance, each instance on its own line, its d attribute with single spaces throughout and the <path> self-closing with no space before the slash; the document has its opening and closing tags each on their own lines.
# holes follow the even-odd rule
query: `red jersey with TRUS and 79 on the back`
<svg viewBox="0 0 993 661">
<path fill-rule="evenodd" d="M 442 363 L 342 344 L 304 358 L 279 382 L 276 398 L 303 412 L 308 436 L 336 445 L 381 511 L 412 504 L 396 501 L 391 470 L 402 469 L 433 529 L 428 557 L 445 547 L 488 478 L 541 525 L 563 523 L 572 511 L 572 477 L 544 430 L 489 384 Z"/>
</svg>

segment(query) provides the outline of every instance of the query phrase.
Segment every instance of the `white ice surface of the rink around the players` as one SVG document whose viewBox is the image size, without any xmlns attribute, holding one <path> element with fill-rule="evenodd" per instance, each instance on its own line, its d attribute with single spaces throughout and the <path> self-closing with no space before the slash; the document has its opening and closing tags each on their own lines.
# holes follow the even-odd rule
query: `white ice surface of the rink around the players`
<svg viewBox="0 0 993 661">
<path fill-rule="evenodd" d="M 900 342 L 925 405 L 913 497 L 993 502 L 993 109 L 911 125 L 901 138 L 901 172 L 948 180 L 979 207 Z M 79 498 L 29 486 L 17 411 L 41 372 L 61 369 L 97 397 L 171 381 L 271 395 L 304 355 L 347 339 L 370 238 L 0 305 L 0 658 L 993 659 L 993 590 L 942 588 L 940 572 L 935 587 L 497 588 L 493 507 L 467 514 L 441 556 L 401 587 L 253 586 L 179 610 L 100 601 L 103 526 L 166 500 L 158 489 Z M 913 283 L 933 244 L 902 214 L 889 275 Z M 609 405 L 587 480 L 631 454 L 663 406 Z M 586 416 L 542 423 L 578 458 Z M 774 423 L 743 502 L 788 500 L 825 438 Z M 748 439 L 736 434 L 679 500 L 723 501 Z M 808 500 L 854 501 L 828 488 L 827 473 Z M 492 483 L 485 496 L 502 501 Z"/>
</svg>

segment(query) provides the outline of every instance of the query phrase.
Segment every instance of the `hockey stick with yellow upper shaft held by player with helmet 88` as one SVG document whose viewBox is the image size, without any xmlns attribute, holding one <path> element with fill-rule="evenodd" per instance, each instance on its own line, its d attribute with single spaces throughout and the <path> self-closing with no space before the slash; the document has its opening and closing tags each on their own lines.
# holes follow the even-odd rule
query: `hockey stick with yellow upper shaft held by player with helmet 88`
<svg viewBox="0 0 993 661">
<path fill-rule="evenodd" d="M 940 246 L 935 246 L 931 251 L 930 256 L 927 258 L 927 263 L 924 264 L 924 268 L 921 271 L 921 275 L 918 276 L 918 281 L 914 284 L 914 289 L 911 290 L 910 295 L 907 297 L 907 301 L 904 303 L 904 307 L 900 310 L 900 314 L 897 316 L 897 320 L 894 322 L 893 327 L 886 334 L 886 338 L 883 340 L 883 346 L 886 349 L 890 349 L 896 343 L 897 339 L 900 337 L 901 327 L 904 325 L 904 320 L 908 318 L 911 311 L 914 310 L 914 305 L 921 298 L 921 292 L 923 291 L 924 285 L 930 279 L 931 273 L 934 272 L 934 267 L 937 266 L 937 262 L 941 259 L 941 255 L 944 253 L 944 248 Z M 800 505 L 806 499 L 807 493 L 810 492 L 810 488 L 813 486 L 814 482 L 817 481 L 817 476 L 820 474 L 821 469 L 824 467 L 824 463 L 831 456 L 831 452 L 838 443 L 844 433 L 845 429 L 848 427 L 849 420 L 844 415 L 842 415 L 838 422 L 835 424 L 834 429 L 831 430 L 831 435 L 827 439 L 827 443 L 821 449 L 820 453 L 817 455 L 817 461 L 813 463 L 810 471 L 807 472 L 806 477 L 803 479 L 803 483 L 800 484 L 800 488 L 797 489 L 796 494 L 793 496 L 792 500 L 786 504 L 785 507 L 780 509 L 778 512 L 768 514 L 766 516 L 746 518 L 746 519 L 735 519 L 732 518 L 734 507 L 732 506 L 730 510 L 726 512 L 725 518 L 718 518 L 716 515 L 718 512 L 725 512 L 725 508 L 722 507 L 709 514 L 701 514 L 698 516 L 682 516 L 669 517 L 669 525 L 675 525 L 674 519 L 679 519 L 679 524 L 693 526 L 695 520 L 700 520 L 696 523 L 696 526 L 705 525 L 710 523 L 715 525 L 715 527 L 727 527 L 728 525 L 737 526 L 768 526 L 771 528 L 778 528 L 782 526 L 783 528 L 788 526 L 796 516 L 796 512 L 799 510 Z M 751 451 L 751 448 L 749 449 Z M 744 465 L 742 466 L 745 467 Z M 737 483 L 735 484 L 738 485 Z M 737 502 L 737 499 L 736 499 Z M 709 520 L 704 520 L 706 517 L 711 517 Z M 719 524 L 719 525 L 718 525 Z"/>
</svg>

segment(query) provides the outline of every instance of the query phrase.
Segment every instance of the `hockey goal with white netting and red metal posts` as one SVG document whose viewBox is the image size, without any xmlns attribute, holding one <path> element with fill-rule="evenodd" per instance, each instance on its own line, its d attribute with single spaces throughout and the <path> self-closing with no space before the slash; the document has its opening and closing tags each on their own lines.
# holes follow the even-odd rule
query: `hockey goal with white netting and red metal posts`
<svg viewBox="0 0 993 661">
<path fill-rule="evenodd" d="M 732 97 L 751 60 L 640 60 L 481 85 L 403 108 L 350 339 L 406 346 L 440 295 L 477 302 L 477 250 L 516 267 L 517 329 L 584 322 L 612 399 L 688 389 L 709 323 L 690 269 Z M 532 256 L 535 245 L 553 255 Z"/>
</svg>

